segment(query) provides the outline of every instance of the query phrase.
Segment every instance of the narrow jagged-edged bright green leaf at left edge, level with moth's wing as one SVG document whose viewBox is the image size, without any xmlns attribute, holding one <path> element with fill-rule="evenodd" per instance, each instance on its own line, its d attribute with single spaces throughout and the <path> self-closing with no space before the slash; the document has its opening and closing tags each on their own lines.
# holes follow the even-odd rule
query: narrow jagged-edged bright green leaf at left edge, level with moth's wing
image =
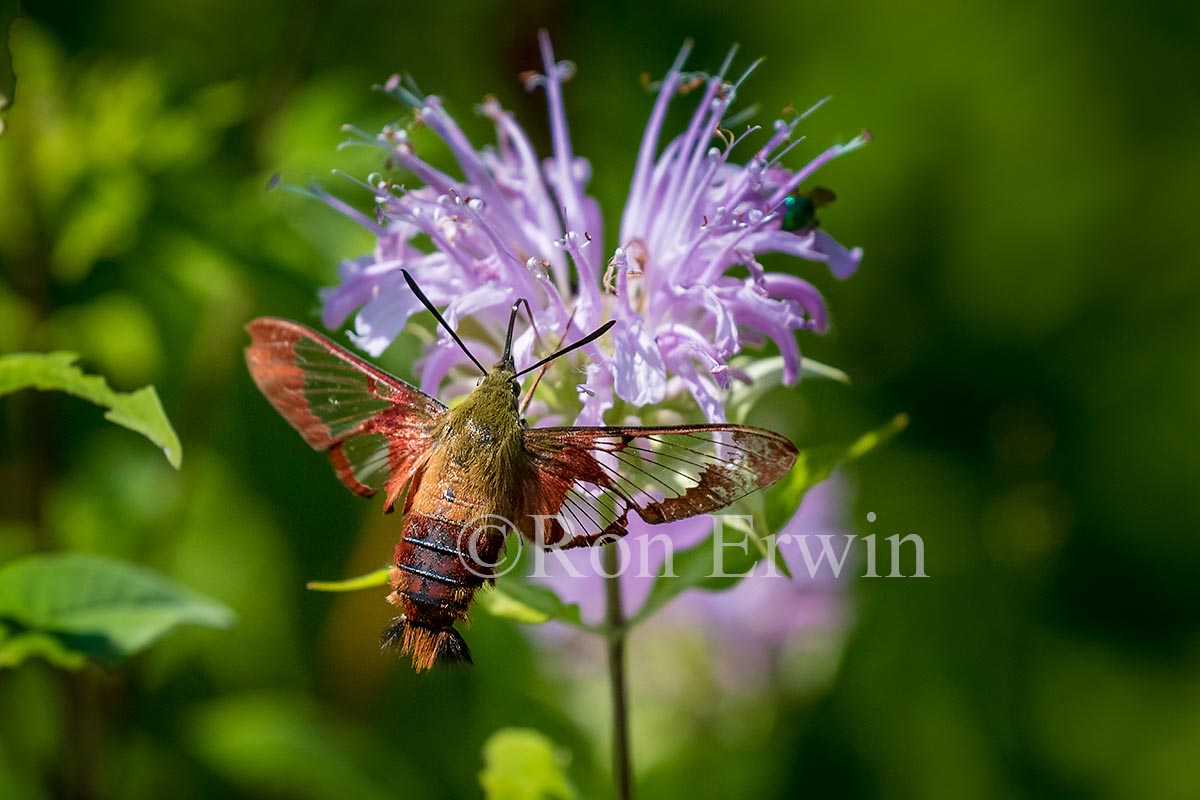
<svg viewBox="0 0 1200 800">
<path fill-rule="evenodd" d="M 167 455 L 179 469 L 184 457 L 179 437 L 167 420 L 154 386 L 118 392 L 103 378 L 85 375 L 73 353 L 14 353 L 0 356 L 0 397 L 22 389 L 58 390 L 91 401 L 108 410 L 104 419 L 140 433 Z"/>
</svg>

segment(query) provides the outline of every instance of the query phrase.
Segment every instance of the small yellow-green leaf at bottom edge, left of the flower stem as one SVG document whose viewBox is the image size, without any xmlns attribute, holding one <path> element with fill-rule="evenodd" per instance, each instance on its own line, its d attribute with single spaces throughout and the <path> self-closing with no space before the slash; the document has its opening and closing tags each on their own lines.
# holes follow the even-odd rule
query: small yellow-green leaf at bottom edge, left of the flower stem
<svg viewBox="0 0 1200 800">
<path fill-rule="evenodd" d="M 554 742 L 530 728 L 500 728 L 484 742 L 479 783 L 487 800 L 575 800 Z"/>
</svg>

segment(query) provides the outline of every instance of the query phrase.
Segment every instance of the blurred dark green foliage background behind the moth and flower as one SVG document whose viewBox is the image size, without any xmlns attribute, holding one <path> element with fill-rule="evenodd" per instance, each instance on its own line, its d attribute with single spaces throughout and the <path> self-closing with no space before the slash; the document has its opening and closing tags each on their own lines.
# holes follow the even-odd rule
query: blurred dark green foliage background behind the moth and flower
<svg viewBox="0 0 1200 800">
<path fill-rule="evenodd" d="M 666 754 L 642 759 L 642 796 L 1200 796 L 1193 4 L 114 0 L 22 14 L 16 90 L 0 59 L 16 100 L 0 353 L 74 350 L 119 389 L 156 385 L 185 459 L 175 473 L 82 401 L 5 398 L 0 563 L 116 555 L 240 622 L 182 630 L 116 672 L 0 672 L 0 796 L 470 798 L 505 726 L 553 738 L 583 796 L 607 795 L 606 744 L 564 710 L 580 687 L 552 680 L 514 625 L 478 621 L 485 668 L 418 678 L 376 652 L 377 593 L 305 591 L 373 569 L 394 521 L 331 480 L 241 361 L 247 319 L 316 324 L 317 288 L 372 245 L 268 178 L 376 169 L 335 146 L 341 124 L 396 113 L 368 88 L 397 71 L 480 143 L 470 108 L 497 92 L 545 152 L 542 98 L 516 79 L 538 66 L 539 26 L 580 67 L 566 102 L 610 236 L 650 104 L 638 76 L 660 76 L 685 37 L 696 68 L 733 42 L 743 64 L 766 56 L 743 92 L 764 116 L 833 95 L 794 163 L 875 134 L 821 176 L 839 194 L 824 223 L 864 247 L 863 269 L 804 272 L 835 319 L 805 353 L 854 385 L 780 402 L 798 403 L 805 443 L 911 414 L 856 465 L 853 519 L 920 534 L 932 577 L 851 588 L 828 685 L 673 709 L 654 735 L 678 745 L 653 742 Z M 673 668 L 631 646 L 634 670 Z"/>
</svg>

